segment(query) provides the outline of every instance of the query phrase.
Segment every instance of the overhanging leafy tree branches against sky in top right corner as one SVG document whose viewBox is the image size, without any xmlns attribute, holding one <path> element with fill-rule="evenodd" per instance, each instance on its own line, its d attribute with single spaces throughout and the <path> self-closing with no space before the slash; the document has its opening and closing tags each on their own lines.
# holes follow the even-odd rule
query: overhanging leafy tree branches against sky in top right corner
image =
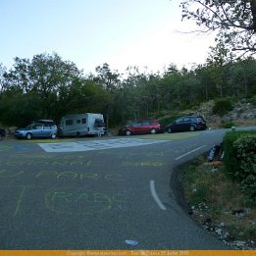
<svg viewBox="0 0 256 256">
<path fill-rule="evenodd" d="M 255 0 L 185 0 L 182 20 L 194 20 L 201 31 L 218 31 L 232 51 L 256 54 Z"/>
</svg>

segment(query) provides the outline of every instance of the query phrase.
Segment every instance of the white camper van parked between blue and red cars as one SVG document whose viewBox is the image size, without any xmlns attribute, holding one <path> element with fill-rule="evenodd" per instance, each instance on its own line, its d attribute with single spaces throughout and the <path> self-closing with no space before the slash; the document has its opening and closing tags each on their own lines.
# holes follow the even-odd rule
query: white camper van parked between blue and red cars
<svg viewBox="0 0 256 256">
<path fill-rule="evenodd" d="M 105 133 L 102 114 L 84 113 L 63 117 L 61 120 L 62 136 L 98 135 Z"/>
</svg>

